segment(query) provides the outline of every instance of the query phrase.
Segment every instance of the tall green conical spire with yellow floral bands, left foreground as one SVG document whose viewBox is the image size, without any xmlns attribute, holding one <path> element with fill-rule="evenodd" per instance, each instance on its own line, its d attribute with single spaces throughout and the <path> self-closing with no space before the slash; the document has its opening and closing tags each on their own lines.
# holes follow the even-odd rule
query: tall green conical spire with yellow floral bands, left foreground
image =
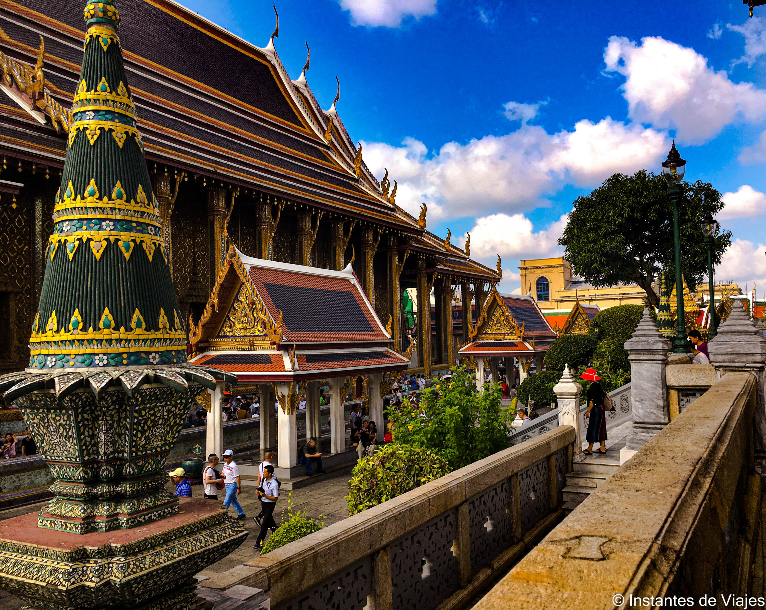
<svg viewBox="0 0 766 610">
<path fill-rule="evenodd" d="M 67 160 L 30 339 L 32 369 L 185 362 L 157 201 L 111 0 L 88 2 Z"/>
</svg>

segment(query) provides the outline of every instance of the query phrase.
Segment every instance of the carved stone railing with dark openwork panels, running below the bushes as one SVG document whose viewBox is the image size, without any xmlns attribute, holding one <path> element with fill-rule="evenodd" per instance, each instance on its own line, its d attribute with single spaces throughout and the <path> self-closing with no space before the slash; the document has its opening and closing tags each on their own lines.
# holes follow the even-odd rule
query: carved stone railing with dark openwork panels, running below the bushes
<svg viewBox="0 0 766 610">
<path fill-rule="evenodd" d="M 465 605 L 563 518 L 574 440 L 561 426 L 499 451 L 250 560 L 237 584 L 273 610 Z"/>
</svg>

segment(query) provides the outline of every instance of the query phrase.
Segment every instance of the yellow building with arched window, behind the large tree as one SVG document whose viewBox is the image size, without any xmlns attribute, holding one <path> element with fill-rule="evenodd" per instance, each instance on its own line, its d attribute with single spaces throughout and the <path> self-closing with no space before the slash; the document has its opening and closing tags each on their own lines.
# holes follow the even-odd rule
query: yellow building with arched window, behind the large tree
<svg viewBox="0 0 766 610">
<path fill-rule="evenodd" d="M 620 284 L 609 288 L 596 288 L 572 274 L 569 261 L 564 257 L 535 258 L 521 261 L 522 294 L 531 294 L 545 313 L 561 310 L 569 314 L 576 300 L 597 305 L 602 310 L 615 305 L 640 305 L 647 293 L 636 284 Z M 660 294 L 659 283 L 655 287 Z"/>
</svg>

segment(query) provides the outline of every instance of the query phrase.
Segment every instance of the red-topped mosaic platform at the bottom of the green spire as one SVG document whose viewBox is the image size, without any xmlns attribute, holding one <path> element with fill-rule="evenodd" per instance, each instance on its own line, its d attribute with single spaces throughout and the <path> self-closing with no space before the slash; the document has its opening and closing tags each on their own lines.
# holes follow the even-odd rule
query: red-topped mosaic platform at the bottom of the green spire
<svg viewBox="0 0 766 610">
<path fill-rule="evenodd" d="M 0 586 L 29 608 L 175 610 L 195 599 L 192 576 L 247 538 L 213 500 L 130 530 L 76 534 L 28 513 L 0 522 Z"/>
</svg>

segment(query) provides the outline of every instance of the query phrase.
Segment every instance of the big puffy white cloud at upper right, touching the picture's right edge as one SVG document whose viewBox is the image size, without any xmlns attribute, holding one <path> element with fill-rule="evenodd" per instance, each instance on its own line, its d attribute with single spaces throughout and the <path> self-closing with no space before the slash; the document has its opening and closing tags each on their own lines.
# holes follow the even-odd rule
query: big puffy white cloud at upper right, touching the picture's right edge
<svg viewBox="0 0 766 610">
<path fill-rule="evenodd" d="M 604 51 L 608 72 L 626 80 L 628 116 L 658 129 L 675 129 L 676 139 L 703 143 L 725 125 L 766 118 L 766 91 L 751 83 L 733 83 L 715 72 L 693 49 L 663 38 L 638 45 L 613 36 Z"/>
</svg>

